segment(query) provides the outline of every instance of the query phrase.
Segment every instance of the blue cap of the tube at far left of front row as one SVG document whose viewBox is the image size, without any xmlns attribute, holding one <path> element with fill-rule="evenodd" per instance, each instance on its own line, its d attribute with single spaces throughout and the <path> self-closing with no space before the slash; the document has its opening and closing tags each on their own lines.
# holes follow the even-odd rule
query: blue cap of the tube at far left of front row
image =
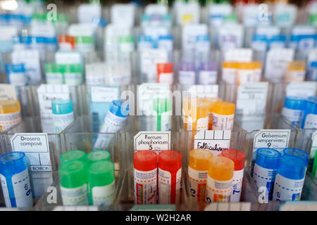
<svg viewBox="0 0 317 225">
<path fill-rule="evenodd" d="M 27 168 L 26 155 L 23 152 L 5 153 L 0 156 L 0 174 L 13 176 Z"/>
</svg>

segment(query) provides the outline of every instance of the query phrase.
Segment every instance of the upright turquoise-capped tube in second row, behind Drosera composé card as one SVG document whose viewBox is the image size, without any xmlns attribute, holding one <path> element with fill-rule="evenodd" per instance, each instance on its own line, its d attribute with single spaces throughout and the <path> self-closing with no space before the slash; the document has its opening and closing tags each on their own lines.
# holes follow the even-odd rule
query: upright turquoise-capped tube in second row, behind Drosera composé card
<svg viewBox="0 0 317 225">
<path fill-rule="evenodd" d="M 54 129 L 56 134 L 59 134 L 74 121 L 73 101 L 56 99 L 51 102 L 51 109 L 53 110 Z"/>
</svg>

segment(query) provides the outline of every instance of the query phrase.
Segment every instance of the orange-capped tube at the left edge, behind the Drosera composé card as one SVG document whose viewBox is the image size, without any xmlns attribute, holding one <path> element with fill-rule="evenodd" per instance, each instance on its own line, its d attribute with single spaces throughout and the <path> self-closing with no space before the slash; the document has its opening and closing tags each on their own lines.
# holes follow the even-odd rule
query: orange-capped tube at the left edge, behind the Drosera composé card
<svg viewBox="0 0 317 225">
<path fill-rule="evenodd" d="M 19 101 L 0 101 L 0 131 L 5 131 L 21 121 Z"/>
</svg>

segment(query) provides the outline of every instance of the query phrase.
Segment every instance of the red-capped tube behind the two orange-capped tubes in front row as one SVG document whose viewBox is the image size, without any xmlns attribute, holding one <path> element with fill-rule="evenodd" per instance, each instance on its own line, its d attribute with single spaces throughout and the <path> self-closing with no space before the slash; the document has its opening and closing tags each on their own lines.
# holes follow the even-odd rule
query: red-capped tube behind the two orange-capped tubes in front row
<svg viewBox="0 0 317 225">
<path fill-rule="evenodd" d="M 230 196 L 230 202 L 238 203 L 240 202 L 242 191 L 245 154 L 241 150 L 225 149 L 221 152 L 221 155 L 223 157 L 230 158 L 230 160 L 235 162 L 235 171 L 233 172 L 232 193 Z"/>
</svg>

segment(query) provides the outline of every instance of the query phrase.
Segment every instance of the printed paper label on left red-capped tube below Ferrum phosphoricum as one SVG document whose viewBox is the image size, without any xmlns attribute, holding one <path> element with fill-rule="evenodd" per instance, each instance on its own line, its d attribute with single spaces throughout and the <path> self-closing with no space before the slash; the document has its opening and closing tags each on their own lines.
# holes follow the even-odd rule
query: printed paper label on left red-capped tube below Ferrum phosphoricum
<svg viewBox="0 0 317 225">
<path fill-rule="evenodd" d="M 135 204 L 156 204 L 157 168 L 150 171 L 134 169 Z"/>
</svg>

